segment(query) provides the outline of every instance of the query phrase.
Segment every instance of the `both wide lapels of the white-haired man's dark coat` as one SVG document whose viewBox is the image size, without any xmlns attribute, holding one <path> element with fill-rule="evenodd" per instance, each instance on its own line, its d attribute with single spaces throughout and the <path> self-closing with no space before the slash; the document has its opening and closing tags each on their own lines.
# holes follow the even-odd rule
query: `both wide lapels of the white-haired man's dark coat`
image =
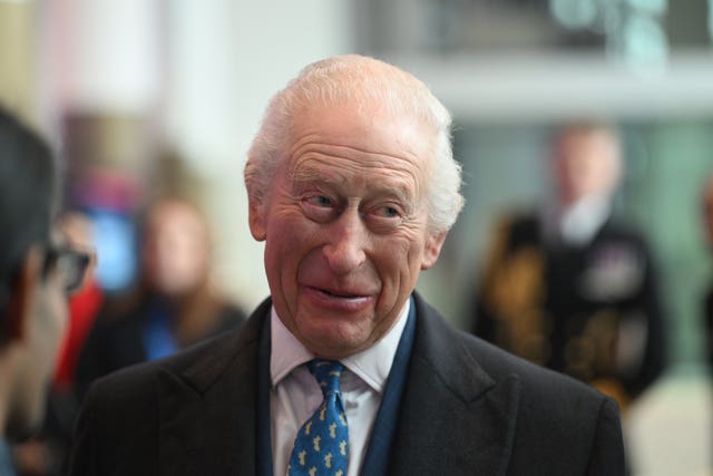
<svg viewBox="0 0 713 476">
<path fill-rule="evenodd" d="M 416 340 L 389 473 L 505 474 L 519 380 L 494 380 L 469 338 L 414 299 Z M 159 373 L 159 474 L 255 474 L 257 349 L 270 305 L 206 343 L 211 351 L 189 351 Z"/>
</svg>

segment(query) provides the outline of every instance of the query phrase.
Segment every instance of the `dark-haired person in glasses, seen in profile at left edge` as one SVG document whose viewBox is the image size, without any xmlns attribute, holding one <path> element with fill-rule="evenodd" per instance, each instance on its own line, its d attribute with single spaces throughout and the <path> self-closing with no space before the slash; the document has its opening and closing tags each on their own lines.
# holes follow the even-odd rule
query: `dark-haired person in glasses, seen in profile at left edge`
<svg viewBox="0 0 713 476">
<path fill-rule="evenodd" d="M 90 254 L 53 226 L 57 176 L 48 146 L 0 109 L 0 475 L 8 440 L 39 429 L 67 324 L 67 297 Z"/>
</svg>

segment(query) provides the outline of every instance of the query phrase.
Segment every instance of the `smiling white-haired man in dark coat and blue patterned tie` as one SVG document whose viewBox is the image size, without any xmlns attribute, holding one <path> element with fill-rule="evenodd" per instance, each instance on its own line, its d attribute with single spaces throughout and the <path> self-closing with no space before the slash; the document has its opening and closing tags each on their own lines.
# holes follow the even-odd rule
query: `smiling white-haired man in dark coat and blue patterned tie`
<svg viewBox="0 0 713 476">
<path fill-rule="evenodd" d="M 422 82 L 360 56 L 279 93 L 245 167 L 271 299 L 95 383 L 72 474 L 622 474 L 613 400 L 413 291 L 462 204 L 449 127 Z"/>
</svg>

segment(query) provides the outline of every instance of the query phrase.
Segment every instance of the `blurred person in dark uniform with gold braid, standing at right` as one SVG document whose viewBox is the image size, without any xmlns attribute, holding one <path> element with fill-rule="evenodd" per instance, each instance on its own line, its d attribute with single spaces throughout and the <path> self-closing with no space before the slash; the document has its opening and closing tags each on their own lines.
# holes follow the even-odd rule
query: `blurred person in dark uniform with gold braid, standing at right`
<svg viewBox="0 0 713 476">
<path fill-rule="evenodd" d="M 473 332 L 626 407 L 662 372 L 665 341 L 648 246 L 612 216 L 621 155 L 618 134 L 608 125 L 557 132 L 556 203 L 498 226 Z"/>
</svg>

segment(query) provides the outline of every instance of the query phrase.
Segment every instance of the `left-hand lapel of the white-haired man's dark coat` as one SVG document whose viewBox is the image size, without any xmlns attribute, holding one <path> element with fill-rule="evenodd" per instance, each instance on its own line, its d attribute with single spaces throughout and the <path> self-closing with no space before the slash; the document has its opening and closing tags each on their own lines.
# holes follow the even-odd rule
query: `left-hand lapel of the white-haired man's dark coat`
<svg viewBox="0 0 713 476">
<path fill-rule="evenodd" d="M 159 474 L 254 474 L 257 342 L 268 304 L 158 376 Z"/>
</svg>

